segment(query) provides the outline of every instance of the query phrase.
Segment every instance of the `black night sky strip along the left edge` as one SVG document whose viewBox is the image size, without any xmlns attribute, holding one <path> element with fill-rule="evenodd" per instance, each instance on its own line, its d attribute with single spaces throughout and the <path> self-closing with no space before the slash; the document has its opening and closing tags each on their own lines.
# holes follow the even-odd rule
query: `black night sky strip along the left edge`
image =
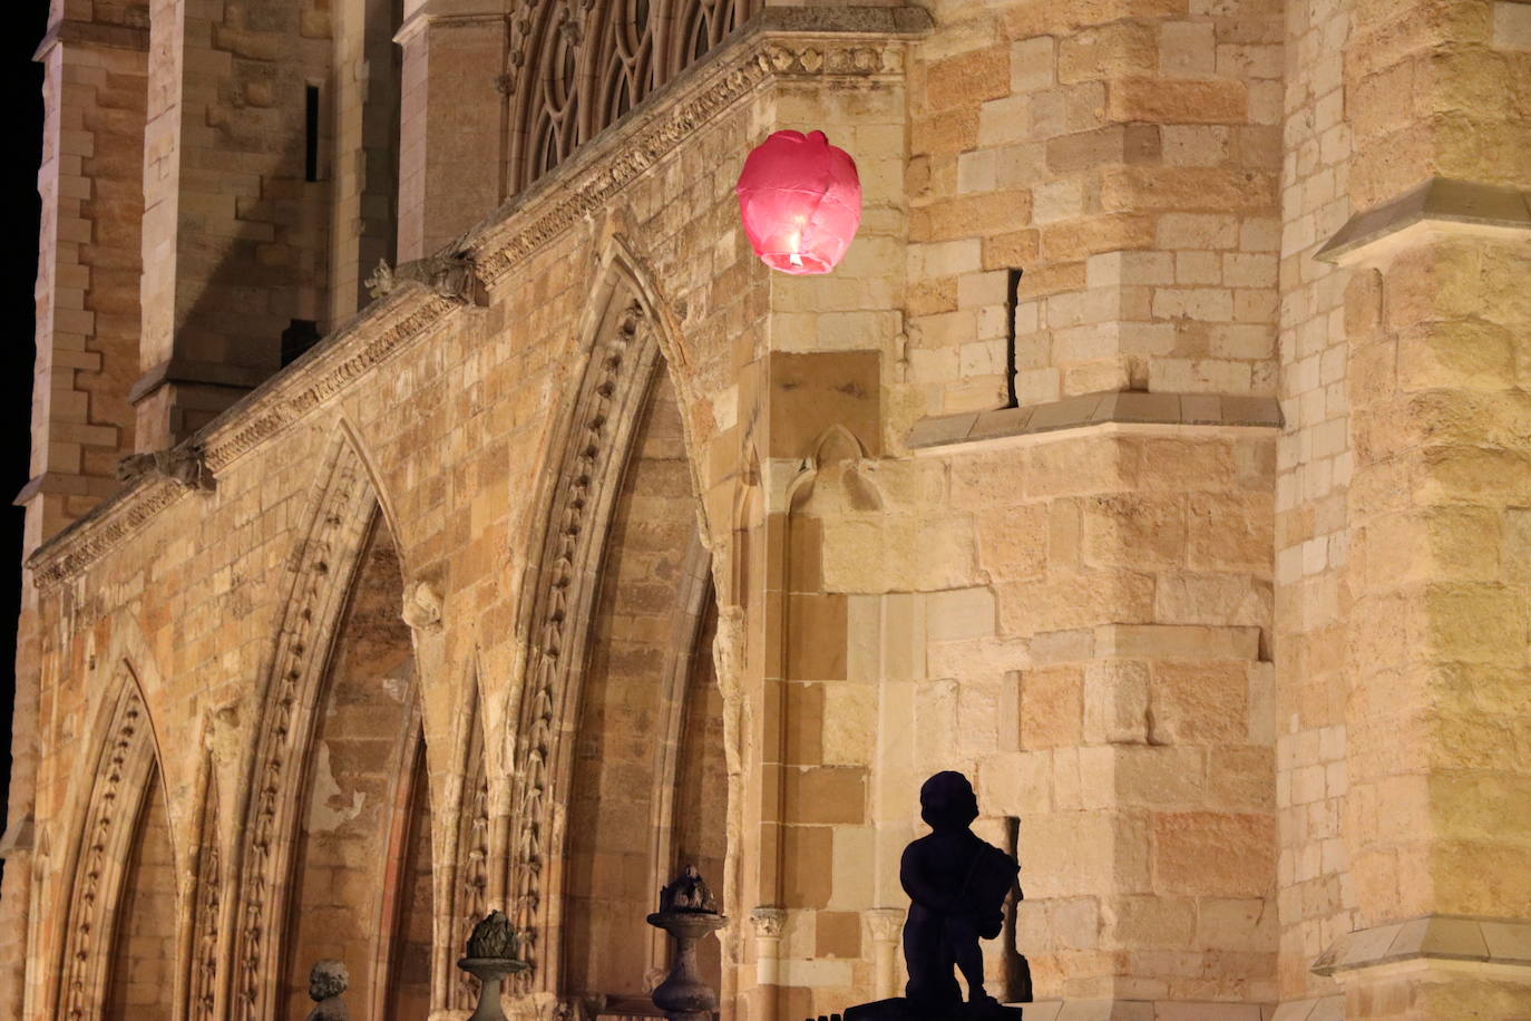
<svg viewBox="0 0 1531 1021">
<path fill-rule="evenodd" d="M 0 351 L 5 403 L 0 430 L 0 543 L 5 550 L 5 580 L 0 582 L 0 788 L 11 779 L 11 703 L 15 693 L 15 618 L 21 605 L 21 508 L 11 497 L 26 484 L 32 418 L 32 361 L 35 357 L 32 285 L 37 280 L 37 165 L 43 142 L 43 67 L 32 52 L 47 26 L 47 0 L 20 0 L 5 32 L 5 95 L 11 110 L 11 158 L 5 164 L 5 274 L 0 276 L 0 321 L 6 343 Z M 0 804 L 3 813 L 3 804 Z"/>
</svg>

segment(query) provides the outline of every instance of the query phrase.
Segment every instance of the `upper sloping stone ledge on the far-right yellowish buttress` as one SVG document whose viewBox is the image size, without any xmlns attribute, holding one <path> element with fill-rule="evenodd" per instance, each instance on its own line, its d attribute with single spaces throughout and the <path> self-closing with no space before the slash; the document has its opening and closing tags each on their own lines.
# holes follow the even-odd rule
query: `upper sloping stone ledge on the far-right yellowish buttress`
<svg viewBox="0 0 1531 1021">
<path fill-rule="evenodd" d="M 1314 259 L 1352 265 L 1387 240 L 1415 230 L 1450 233 L 1531 231 L 1531 194 L 1519 188 L 1433 178 L 1413 191 L 1356 213 Z"/>
</svg>

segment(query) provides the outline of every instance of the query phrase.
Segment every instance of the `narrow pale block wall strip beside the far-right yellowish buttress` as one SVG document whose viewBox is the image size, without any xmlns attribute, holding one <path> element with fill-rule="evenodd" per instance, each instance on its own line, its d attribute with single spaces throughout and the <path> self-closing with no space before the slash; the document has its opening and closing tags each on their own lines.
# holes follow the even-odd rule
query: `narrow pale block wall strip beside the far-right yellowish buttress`
<svg viewBox="0 0 1531 1021">
<path fill-rule="evenodd" d="M 1332 983 L 1309 969 L 1355 925 L 1343 831 L 1353 470 L 1349 272 L 1314 259 L 1352 213 L 1349 34 L 1349 3 L 1288 6 L 1280 340 L 1286 430 L 1275 481 L 1275 663 L 1281 997 L 1297 1003 L 1334 997 Z"/>
</svg>

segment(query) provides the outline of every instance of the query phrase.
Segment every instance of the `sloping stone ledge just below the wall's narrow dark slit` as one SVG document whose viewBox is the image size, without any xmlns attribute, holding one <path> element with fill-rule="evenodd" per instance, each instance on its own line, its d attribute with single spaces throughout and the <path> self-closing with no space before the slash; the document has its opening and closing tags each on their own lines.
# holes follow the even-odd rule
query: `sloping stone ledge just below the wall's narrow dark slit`
<svg viewBox="0 0 1531 1021">
<path fill-rule="evenodd" d="M 1274 396 L 1085 393 L 1052 404 L 925 418 L 909 430 L 908 444 L 912 450 L 929 450 L 1105 424 L 1280 429 L 1281 406 Z"/>
</svg>

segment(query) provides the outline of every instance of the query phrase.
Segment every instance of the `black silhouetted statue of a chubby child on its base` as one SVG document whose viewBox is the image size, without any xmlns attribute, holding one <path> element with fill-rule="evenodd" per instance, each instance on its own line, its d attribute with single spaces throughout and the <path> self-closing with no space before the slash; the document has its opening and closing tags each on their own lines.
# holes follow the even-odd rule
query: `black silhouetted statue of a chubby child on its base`
<svg viewBox="0 0 1531 1021">
<path fill-rule="evenodd" d="M 1020 1018 L 983 987 L 978 940 L 992 940 L 1004 925 L 1004 897 L 1020 865 L 969 828 L 978 799 L 961 773 L 937 773 L 920 787 L 920 817 L 931 827 L 903 850 L 899 880 L 909 894 L 903 923 L 903 960 L 909 984 L 903 1000 L 851 1007 L 845 1021 L 951 1021 Z M 963 1003 L 954 969 L 968 981 Z"/>
</svg>

